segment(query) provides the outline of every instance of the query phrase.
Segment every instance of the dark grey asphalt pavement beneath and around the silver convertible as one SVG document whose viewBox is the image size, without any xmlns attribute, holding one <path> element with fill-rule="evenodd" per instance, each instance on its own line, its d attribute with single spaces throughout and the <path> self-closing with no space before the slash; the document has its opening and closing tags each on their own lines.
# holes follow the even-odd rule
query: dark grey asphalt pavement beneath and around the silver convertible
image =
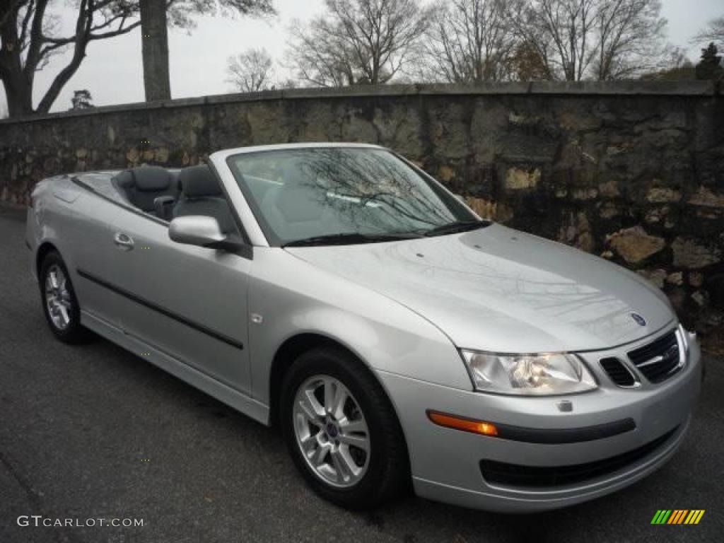
<svg viewBox="0 0 724 543">
<path fill-rule="evenodd" d="M 536 515 L 413 496 L 350 513 L 306 487 L 274 429 L 106 340 L 56 341 L 24 235 L 25 214 L 0 207 L 0 543 L 724 540 L 724 361 L 707 360 L 681 450 L 622 492 Z M 706 512 L 657 526 L 657 509 Z M 31 515 L 143 526 L 36 527 Z"/>
</svg>

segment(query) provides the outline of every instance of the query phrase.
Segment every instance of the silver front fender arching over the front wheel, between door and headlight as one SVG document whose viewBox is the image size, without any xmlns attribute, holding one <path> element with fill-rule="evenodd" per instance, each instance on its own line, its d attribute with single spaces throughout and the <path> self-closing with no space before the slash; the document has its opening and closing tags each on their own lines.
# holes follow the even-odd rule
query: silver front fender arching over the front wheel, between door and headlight
<svg viewBox="0 0 724 543">
<path fill-rule="evenodd" d="M 339 343 L 372 371 L 387 371 L 471 390 L 457 348 L 434 324 L 372 290 L 317 269 L 282 248 L 259 248 L 249 285 L 252 390 L 269 404 L 269 376 L 277 350 L 298 334 Z M 343 306 L 343 307 L 342 307 Z M 258 318 L 256 319 L 258 320 Z"/>
</svg>

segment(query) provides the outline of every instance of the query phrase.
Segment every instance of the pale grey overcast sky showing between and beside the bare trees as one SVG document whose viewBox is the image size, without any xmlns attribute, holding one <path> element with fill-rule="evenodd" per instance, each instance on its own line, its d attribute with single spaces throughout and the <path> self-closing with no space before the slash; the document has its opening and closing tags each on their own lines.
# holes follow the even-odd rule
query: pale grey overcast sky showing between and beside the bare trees
<svg viewBox="0 0 724 543">
<path fill-rule="evenodd" d="M 689 38 L 713 17 L 724 14 L 723 0 L 662 0 L 662 15 L 668 19 L 668 41 L 689 49 L 695 59 L 699 51 Z M 64 3 L 54 2 L 64 23 L 72 25 L 73 14 Z M 322 0 L 274 0 L 278 17 L 266 20 L 229 17 L 197 17 L 197 27 L 169 30 L 171 93 L 173 98 L 219 94 L 232 90 L 226 80 L 227 56 L 250 47 L 266 47 L 276 59 L 286 49 L 287 28 L 293 19 L 308 20 L 322 12 Z M 70 26 L 69 26 L 70 28 Z M 143 73 L 140 56 L 140 28 L 127 35 L 91 42 L 80 69 L 65 85 L 52 111 L 70 108 L 73 90 L 87 88 L 93 104 L 123 104 L 143 101 Z M 54 59 L 35 78 L 33 104 L 38 104 L 54 75 L 62 69 L 61 57 Z M 285 75 L 284 73 L 280 75 Z M 7 111 L 0 85 L 0 111 Z"/>
</svg>

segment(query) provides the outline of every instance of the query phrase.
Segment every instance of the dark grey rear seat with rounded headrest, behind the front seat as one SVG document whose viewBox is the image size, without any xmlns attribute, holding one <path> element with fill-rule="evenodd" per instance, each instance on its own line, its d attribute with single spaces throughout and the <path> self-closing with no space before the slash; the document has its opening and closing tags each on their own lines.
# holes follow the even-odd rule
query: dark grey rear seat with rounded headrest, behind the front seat
<svg viewBox="0 0 724 543">
<path fill-rule="evenodd" d="M 157 166 L 127 169 L 117 174 L 113 182 L 128 203 L 146 213 L 155 211 L 153 201 L 159 196 L 176 198 L 178 194 L 174 174 Z"/>
</svg>

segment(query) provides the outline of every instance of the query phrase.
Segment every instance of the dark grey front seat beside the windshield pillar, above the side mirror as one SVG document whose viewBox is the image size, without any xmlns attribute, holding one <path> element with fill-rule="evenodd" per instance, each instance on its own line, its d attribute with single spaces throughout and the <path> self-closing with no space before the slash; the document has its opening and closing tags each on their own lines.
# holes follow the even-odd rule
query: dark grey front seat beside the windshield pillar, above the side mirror
<svg viewBox="0 0 724 543">
<path fill-rule="evenodd" d="M 212 216 L 219 222 L 224 234 L 237 233 L 234 217 L 219 186 L 219 180 L 206 164 L 182 169 L 179 185 L 181 194 L 174 206 L 174 217 Z"/>
</svg>

